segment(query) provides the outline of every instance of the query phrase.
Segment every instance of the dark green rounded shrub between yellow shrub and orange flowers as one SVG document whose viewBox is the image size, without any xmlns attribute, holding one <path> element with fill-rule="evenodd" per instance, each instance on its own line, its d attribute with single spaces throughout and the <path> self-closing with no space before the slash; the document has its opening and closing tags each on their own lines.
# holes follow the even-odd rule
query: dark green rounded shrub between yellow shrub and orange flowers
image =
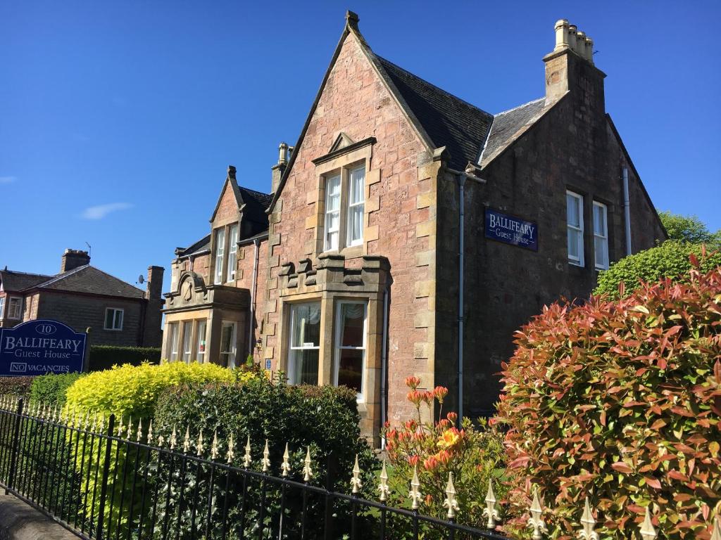
<svg viewBox="0 0 721 540">
<path fill-rule="evenodd" d="M 260 471 L 260 458 L 268 441 L 270 450 L 269 474 L 280 476 L 280 464 L 283 461 L 283 451 L 288 444 L 290 450 L 292 480 L 303 482 L 302 469 L 306 457 L 306 449 L 310 449 L 314 478 L 313 485 L 327 485 L 327 468 L 329 456 L 335 474 L 330 479 L 332 488 L 341 492 L 350 492 L 350 472 L 353 469 L 355 456 L 358 454 L 360 467 L 363 470 L 363 488 L 361 496 L 376 497 L 376 482 L 373 479 L 373 470 L 378 464 L 367 442 L 361 438 L 359 428 L 358 405 L 356 392 L 345 387 L 332 386 L 300 386 L 293 387 L 278 380 L 271 381 L 267 377 L 257 377 L 243 384 L 237 383 L 211 383 L 211 384 L 185 384 L 174 387 L 159 398 L 154 418 L 154 432 L 169 439 L 174 426 L 177 427 L 179 446 L 185 436 L 187 426 L 190 426 L 190 438 L 195 443 L 198 433 L 203 430 L 206 443 L 206 453 L 209 451 L 213 433 L 218 434 L 220 458 L 225 462 L 227 441 L 231 433 L 235 441 L 235 456 L 233 464 L 243 467 L 244 446 L 247 436 L 250 436 L 253 462 L 251 469 Z M 191 452 L 195 451 L 193 444 Z M 195 466 L 193 466 L 195 467 Z M 177 463 L 176 463 L 177 469 Z M 169 474 L 167 464 L 159 468 L 159 478 L 167 478 Z M 207 477 L 196 478 L 193 470 L 186 471 L 186 490 L 180 489 L 179 484 L 172 486 L 172 498 L 166 505 L 167 482 L 161 481 L 159 492 L 155 500 L 159 501 L 158 521 L 165 516 L 169 520 L 169 530 L 174 534 L 193 536 L 195 531 L 190 527 L 191 515 L 189 510 L 182 513 L 180 531 L 176 526 L 178 493 L 184 492 L 185 507 L 189 508 L 190 501 L 197 500 L 199 511 L 202 513 L 206 506 L 208 480 Z M 246 534 L 255 530 L 257 510 L 260 505 L 260 487 L 257 482 L 251 482 L 248 490 L 247 508 L 245 516 Z M 242 478 L 234 476 L 227 485 L 225 472 L 218 469 L 214 483 L 215 500 L 229 499 L 229 536 L 240 537 L 241 508 L 240 495 L 242 493 Z M 269 485 L 266 493 L 266 523 L 273 534 L 278 537 L 277 516 L 280 511 L 280 490 L 276 485 Z M 219 503 L 217 503 L 219 504 Z M 293 536 L 297 533 L 295 528 L 300 524 L 298 518 L 301 511 L 302 497 L 299 492 L 292 492 L 286 498 L 286 516 L 284 534 Z M 347 511 L 348 504 L 342 501 L 335 502 L 335 523 L 337 528 L 347 526 L 349 523 Z M 322 530 L 324 499 L 318 496 L 309 498 L 307 524 L 314 533 L 320 534 Z M 217 511 L 217 510 L 216 510 Z M 276 516 L 270 521 L 268 516 Z M 200 519 L 200 518 L 199 518 Z M 309 531 L 306 531 L 309 534 Z M 338 536 L 334 536 L 338 537 Z"/>
</svg>

